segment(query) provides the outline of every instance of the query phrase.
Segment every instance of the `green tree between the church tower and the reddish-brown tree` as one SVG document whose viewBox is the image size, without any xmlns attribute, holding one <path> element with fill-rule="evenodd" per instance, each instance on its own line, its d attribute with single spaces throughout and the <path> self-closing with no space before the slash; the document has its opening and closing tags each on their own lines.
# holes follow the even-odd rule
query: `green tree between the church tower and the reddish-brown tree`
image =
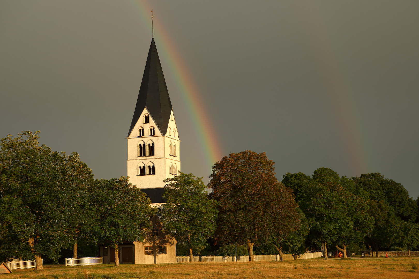
<svg viewBox="0 0 419 279">
<path fill-rule="evenodd" d="M 163 229 L 179 243 L 186 243 L 193 261 L 192 249 L 202 251 L 214 234 L 216 202 L 208 199 L 202 177 L 181 172 L 164 182 L 168 184 L 163 194 L 166 199 L 161 218 Z"/>
</svg>

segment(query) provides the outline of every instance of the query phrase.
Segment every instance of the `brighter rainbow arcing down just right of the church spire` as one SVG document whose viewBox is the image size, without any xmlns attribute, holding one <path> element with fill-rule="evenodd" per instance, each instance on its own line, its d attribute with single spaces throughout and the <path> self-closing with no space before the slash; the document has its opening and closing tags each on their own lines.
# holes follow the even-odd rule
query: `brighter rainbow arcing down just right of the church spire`
<svg viewBox="0 0 419 279">
<path fill-rule="evenodd" d="M 150 11 L 153 10 L 153 8 L 145 3 L 145 1 L 130 0 L 130 2 L 139 12 L 143 24 L 151 30 Z M 182 59 L 180 52 L 176 49 L 169 33 L 162 27 L 161 22 L 154 26 L 154 38 L 157 38 L 158 41 L 160 41 L 158 44 L 159 54 L 162 54 L 165 58 L 165 64 L 169 67 L 169 71 L 176 81 L 176 86 L 178 87 L 179 92 L 181 92 L 181 97 L 186 104 L 207 166 L 211 169 L 215 162 L 221 160 L 223 152 L 216 136 L 217 133 L 209 120 L 207 109 L 200 97 L 199 89 L 192 79 L 192 75 L 184 63 L 184 59 Z"/>
</svg>

